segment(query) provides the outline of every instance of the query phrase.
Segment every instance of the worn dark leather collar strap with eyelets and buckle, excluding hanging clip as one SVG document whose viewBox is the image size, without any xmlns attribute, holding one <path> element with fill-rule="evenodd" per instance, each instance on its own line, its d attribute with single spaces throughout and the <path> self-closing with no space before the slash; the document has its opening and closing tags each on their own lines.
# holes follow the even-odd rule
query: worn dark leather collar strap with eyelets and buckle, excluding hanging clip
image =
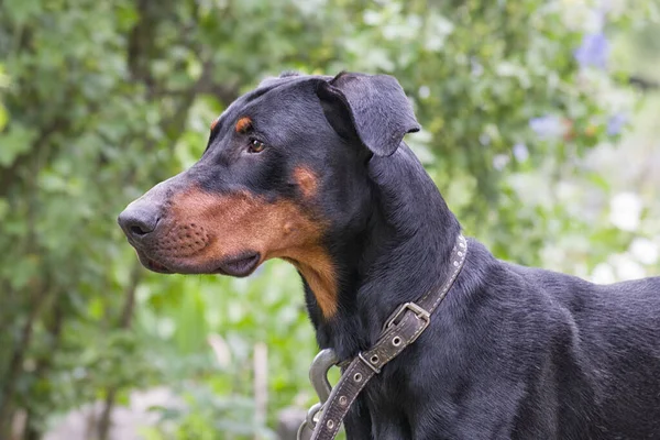
<svg viewBox="0 0 660 440">
<path fill-rule="evenodd" d="M 465 264 L 468 241 L 462 234 L 451 252 L 453 272 L 440 289 L 431 289 L 416 302 L 406 302 L 387 319 L 377 342 L 355 356 L 321 408 L 311 440 L 332 440 L 360 392 L 381 369 L 419 338 L 431 315 L 453 286 Z"/>
</svg>

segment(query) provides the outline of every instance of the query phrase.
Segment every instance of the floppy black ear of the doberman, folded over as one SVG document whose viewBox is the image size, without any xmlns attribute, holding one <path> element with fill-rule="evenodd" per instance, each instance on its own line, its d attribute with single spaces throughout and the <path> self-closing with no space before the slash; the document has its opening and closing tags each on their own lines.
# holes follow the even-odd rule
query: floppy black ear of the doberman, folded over
<svg viewBox="0 0 660 440">
<path fill-rule="evenodd" d="M 377 156 L 392 155 L 406 133 L 420 130 L 404 89 L 388 75 L 341 73 L 319 81 L 317 96 L 337 133 Z"/>
</svg>

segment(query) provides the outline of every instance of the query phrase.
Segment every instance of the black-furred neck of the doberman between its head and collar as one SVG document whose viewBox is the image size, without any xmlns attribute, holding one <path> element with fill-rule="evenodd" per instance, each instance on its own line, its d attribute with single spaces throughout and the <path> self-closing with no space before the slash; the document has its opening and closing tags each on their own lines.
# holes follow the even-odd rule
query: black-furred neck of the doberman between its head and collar
<svg viewBox="0 0 660 440">
<path fill-rule="evenodd" d="M 460 224 L 410 150 L 374 157 L 369 165 L 372 201 L 364 229 L 333 250 L 338 267 L 337 314 L 326 319 L 306 284 L 308 309 L 321 348 L 344 360 L 371 346 L 402 304 L 437 288 L 451 271 Z"/>
</svg>

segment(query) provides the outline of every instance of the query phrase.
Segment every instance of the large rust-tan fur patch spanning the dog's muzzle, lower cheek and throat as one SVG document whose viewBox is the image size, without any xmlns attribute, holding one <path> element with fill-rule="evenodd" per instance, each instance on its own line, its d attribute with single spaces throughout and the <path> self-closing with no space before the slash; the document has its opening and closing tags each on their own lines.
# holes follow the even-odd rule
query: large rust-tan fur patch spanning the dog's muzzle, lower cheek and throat
<svg viewBox="0 0 660 440">
<path fill-rule="evenodd" d="M 162 258 L 212 272 L 228 257 L 256 251 L 263 263 L 283 258 L 296 266 L 326 318 L 337 312 L 337 275 L 321 246 L 323 224 L 293 201 L 267 202 L 250 193 L 218 196 L 194 188 L 172 199 L 169 221 L 204 231 L 205 246 L 193 255 L 168 248 Z M 185 237 L 185 235 L 183 235 Z M 177 238 L 182 234 L 177 232 Z M 201 242 L 201 240 L 198 240 Z M 183 243 L 186 249 L 199 245 Z"/>
</svg>

